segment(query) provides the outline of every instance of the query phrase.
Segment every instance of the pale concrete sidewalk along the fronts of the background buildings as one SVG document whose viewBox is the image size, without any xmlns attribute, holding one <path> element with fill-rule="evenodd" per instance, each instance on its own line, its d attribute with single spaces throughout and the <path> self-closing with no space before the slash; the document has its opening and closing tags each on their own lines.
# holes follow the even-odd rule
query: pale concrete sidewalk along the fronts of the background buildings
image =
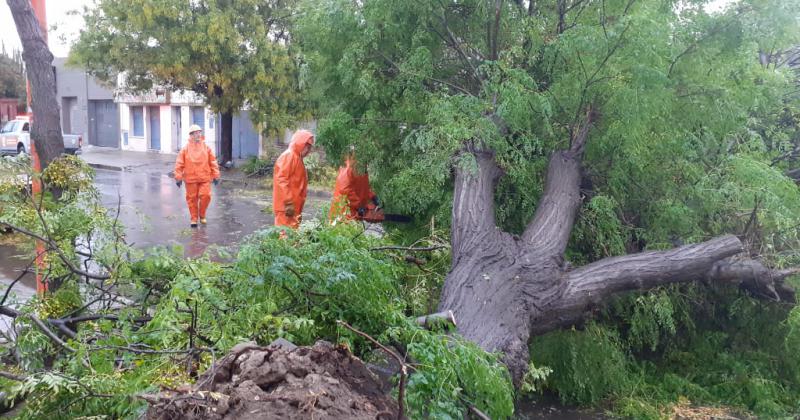
<svg viewBox="0 0 800 420">
<path fill-rule="evenodd" d="M 161 174 L 172 177 L 177 154 L 158 152 L 133 152 L 109 147 L 84 146 L 79 155 L 89 166 L 109 171 Z M 220 167 L 223 181 L 247 182 L 238 169 Z"/>
</svg>

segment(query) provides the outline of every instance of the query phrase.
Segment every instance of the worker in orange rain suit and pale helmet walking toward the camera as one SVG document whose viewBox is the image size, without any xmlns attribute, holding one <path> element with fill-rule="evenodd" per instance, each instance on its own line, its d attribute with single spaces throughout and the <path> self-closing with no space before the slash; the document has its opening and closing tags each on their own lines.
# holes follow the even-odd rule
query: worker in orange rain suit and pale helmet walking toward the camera
<svg viewBox="0 0 800 420">
<path fill-rule="evenodd" d="M 219 183 L 219 165 L 214 152 L 205 143 L 203 130 L 189 127 L 189 143 L 178 153 L 175 161 L 175 184 L 180 188 L 186 182 L 186 204 L 189 205 L 191 227 L 206 224 L 206 209 L 211 202 L 211 182 Z"/>
</svg>

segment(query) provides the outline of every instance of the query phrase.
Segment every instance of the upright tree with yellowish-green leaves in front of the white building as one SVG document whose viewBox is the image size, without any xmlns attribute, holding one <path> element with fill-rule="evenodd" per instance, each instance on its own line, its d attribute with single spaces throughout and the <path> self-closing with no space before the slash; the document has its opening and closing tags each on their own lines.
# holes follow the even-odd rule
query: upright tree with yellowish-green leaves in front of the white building
<svg viewBox="0 0 800 420">
<path fill-rule="evenodd" d="M 289 48 L 292 2 L 101 0 L 85 10 L 86 29 L 70 61 L 125 89 L 193 90 L 222 114 L 223 162 L 232 159 L 233 115 L 283 129 L 301 115 L 298 67 Z"/>
</svg>

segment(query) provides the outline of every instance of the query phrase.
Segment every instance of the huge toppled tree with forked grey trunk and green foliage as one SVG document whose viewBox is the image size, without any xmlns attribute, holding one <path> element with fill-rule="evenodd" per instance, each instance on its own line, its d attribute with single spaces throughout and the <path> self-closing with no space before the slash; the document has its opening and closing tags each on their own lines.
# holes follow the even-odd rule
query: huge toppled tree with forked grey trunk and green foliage
<svg viewBox="0 0 800 420">
<path fill-rule="evenodd" d="M 385 201 L 449 222 L 439 307 L 517 383 L 532 334 L 612 294 L 709 281 L 794 301 L 796 270 L 739 255 L 800 261 L 800 191 L 754 130 L 797 100 L 758 63 L 800 41 L 800 5 L 704 3 L 308 4 L 320 141 L 371 139 L 357 153 Z"/>
</svg>

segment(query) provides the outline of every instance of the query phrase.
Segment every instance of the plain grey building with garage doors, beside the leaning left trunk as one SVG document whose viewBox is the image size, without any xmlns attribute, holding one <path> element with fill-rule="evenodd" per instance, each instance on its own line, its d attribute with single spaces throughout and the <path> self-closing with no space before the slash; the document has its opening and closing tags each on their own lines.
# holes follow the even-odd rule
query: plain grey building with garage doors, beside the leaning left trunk
<svg viewBox="0 0 800 420">
<path fill-rule="evenodd" d="M 86 72 L 66 67 L 66 60 L 53 60 L 61 130 L 80 134 L 94 146 L 119 147 L 120 121 L 114 92 Z"/>
</svg>

